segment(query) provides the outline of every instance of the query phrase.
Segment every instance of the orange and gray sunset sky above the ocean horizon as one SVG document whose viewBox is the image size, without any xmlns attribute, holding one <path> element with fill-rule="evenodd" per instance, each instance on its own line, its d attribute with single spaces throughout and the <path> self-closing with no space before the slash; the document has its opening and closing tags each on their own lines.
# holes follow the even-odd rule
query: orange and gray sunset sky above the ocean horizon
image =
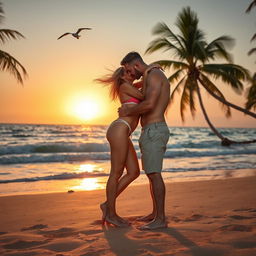
<svg viewBox="0 0 256 256">
<path fill-rule="evenodd" d="M 215 4 L 203 0 L 2 2 L 6 16 L 2 28 L 16 29 L 26 39 L 10 41 L 1 45 L 1 49 L 17 58 L 29 73 L 22 87 L 9 73 L 1 72 L 2 123 L 109 124 L 116 118 L 119 104 L 111 102 L 107 88 L 94 79 L 104 75 L 107 69 L 117 68 L 120 59 L 131 50 L 143 55 L 154 39 L 151 30 L 157 22 L 164 21 L 175 30 L 177 14 L 187 5 L 197 12 L 199 26 L 209 41 L 224 34 L 234 37 L 235 62 L 250 71 L 255 68 L 253 57 L 247 56 L 253 47 L 250 38 L 255 31 L 254 14 L 244 13 L 250 1 L 216 1 Z M 57 40 L 62 33 L 83 26 L 92 30 L 83 31 L 79 40 L 72 37 Z M 238 29 L 241 27 L 243 29 Z M 170 55 L 161 52 L 144 55 L 147 63 L 166 57 Z M 166 75 L 170 74 L 171 71 L 166 71 Z M 238 96 L 219 82 L 218 86 L 228 100 L 244 105 L 244 94 Z M 97 104 L 98 112 L 94 118 L 85 120 L 81 112 L 80 117 L 77 116 L 75 109 L 79 104 L 81 108 L 89 108 L 83 105 L 89 100 Z M 195 120 L 187 112 L 186 123 L 182 124 L 178 100 L 170 108 L 169 125 L 207 126 L 199 107 Z M 255 120 L 237 111 L 232 111 L 232 118 L 227 120 L 219 104 L 208 96 L 204 102 L 216 126 L 256 127 Z"/>
</svg>

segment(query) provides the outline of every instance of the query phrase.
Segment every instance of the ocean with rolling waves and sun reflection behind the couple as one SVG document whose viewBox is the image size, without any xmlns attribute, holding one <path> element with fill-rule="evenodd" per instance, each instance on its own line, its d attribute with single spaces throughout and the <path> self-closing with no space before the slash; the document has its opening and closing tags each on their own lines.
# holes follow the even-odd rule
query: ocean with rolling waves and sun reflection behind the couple
<svg viewBox="0 0 256 256">
<path fill-rule="evenodd" d="M 0 195 L 105 188 L 110 151 L 103 125 L 0 124 Z M 221 128 L 233 140 L 256 138 L 253 128 Z M 168 181 L 256 174 L 256 143 L 223 147 L 209 128 L 169 127 L 163 176 Z M 140 159 L 138 139 L 132 141 Z M 141 171 L 135 184 L 147 183 Z"/>
</svg>

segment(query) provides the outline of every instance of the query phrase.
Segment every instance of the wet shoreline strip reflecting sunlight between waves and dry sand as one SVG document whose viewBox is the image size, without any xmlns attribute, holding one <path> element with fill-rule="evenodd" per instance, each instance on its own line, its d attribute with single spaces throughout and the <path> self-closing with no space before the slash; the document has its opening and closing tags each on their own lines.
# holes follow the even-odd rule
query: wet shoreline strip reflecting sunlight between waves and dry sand
<svg viewBox="0 0 256 256">
<path fill-rule="evenodd" d="M 202 171 L 210 172 L 211 171 Z M 200 181 L 214 181 L 214 180 L 226 180 L 232 178 L 243 178 L 243 177 L 253 177 L 256 176 L 256 171 L 252 169 L 238 169 L 238 170 L 218 170 L 214 174 L 209 176 L 199 175 L 198 171 L 195 171 L 195 176 L 191 171 L 191 177 L 182 177 L 180 173 L 176 172 L 162 172 L 164 182 L 166 184 L 174 183 L 187 183 L 187 182 L 200 182 Z M 103 177 L 87 177 L 79 179 L 67 179 L 67 180 L 51 180 L 51 181 L 35 181 L 35 182 L 20 182 L 20 183 L 11 183 L 11 186 L 17 186 L 17 184 L 24 185 L 35 185 L 35 188 L 39 190 L 40 188 L 45 188 L 48 185 L 50 188 L 59 187 L 59 190 L 45 190 L 45 191 L 22 191 L 22 192 L 12 192 L 12 193 L 0 193 L 1 197 L 11 197 L 11 196 L 23 196 L 23 195 L 44 195 L 52 193 L 74 193 L 74 192 L 91 192 L 91 191 L 105 191 L 105 185 L 107 182 L 108 176 Z M 129 187 L 148 185 L 148 178 L 145 173 L 141 173 L 140 176 L 133 181 Z M 0 184 L 0 187 L 6 184 Z M 7 184 L 10 185 L 10 184 Z"/>
</svg>

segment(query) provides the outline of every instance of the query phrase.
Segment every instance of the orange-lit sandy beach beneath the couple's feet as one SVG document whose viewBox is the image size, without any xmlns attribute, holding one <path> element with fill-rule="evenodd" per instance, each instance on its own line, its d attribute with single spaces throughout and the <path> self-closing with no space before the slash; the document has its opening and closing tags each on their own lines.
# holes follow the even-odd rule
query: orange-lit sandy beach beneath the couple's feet
<svg viewBox="0 0 256 256">
<path fill-rule="evenodd" d="M 167 182 L 168 228 L 141 231 L 149 189 L 131 185 L 117 201 L 128 228 L 102 225 L 104 190 L 0 197 L 1 255 L 256 254 L 256 176 Z"/>
</svg>

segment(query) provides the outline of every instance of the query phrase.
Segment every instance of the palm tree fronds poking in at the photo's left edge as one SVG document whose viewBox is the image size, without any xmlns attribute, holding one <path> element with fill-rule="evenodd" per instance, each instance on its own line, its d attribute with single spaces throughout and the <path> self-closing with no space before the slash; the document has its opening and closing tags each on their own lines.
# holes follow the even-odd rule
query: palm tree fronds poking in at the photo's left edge
<svg viewBox="0 0 256 256">
<path fill-rule="evenodd" d="M 4 19 L 4 10 L 2 3 L 0 2 L 0 24 Z M 11 29 L 0 29 L 0 44 L 6 43 L 10 39 L 24 38 L 24 36 Z M 0 70 L 8 71 L 17 79 L 17 81 L 23 84 L 23 77 L 27 76 L 26 69 L 21 65 L 21 63 L 16 60 L 9 53 L 0 50 Z"/>
</svg>

